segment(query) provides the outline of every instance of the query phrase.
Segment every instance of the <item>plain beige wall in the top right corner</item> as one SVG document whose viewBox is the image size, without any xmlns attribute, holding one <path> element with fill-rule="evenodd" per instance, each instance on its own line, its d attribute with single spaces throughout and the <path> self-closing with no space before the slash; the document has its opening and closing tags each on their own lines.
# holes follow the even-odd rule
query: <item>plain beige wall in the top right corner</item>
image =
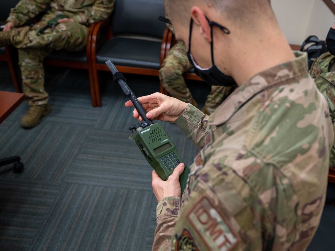
<svg viewBox="0 0 335 251">
<path fill-rule="evenodd" d="M 302 44 L 309 35 L 325 39 L 334 25 L 334 14 L 322 0 L 271 0 L 271 3 L 291 44 Z"/>
</svg>

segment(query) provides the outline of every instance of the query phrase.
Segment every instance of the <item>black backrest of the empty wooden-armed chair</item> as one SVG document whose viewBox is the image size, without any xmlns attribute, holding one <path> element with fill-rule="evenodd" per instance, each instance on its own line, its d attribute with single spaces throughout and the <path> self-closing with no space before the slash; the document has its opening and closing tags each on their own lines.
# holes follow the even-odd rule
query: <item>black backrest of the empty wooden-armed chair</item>
<svg viewBox="0 0 335 251">
<path fill-rule="evenodd" d="M 161 38 L 166 26 L 158 20 L 159 16 L 164 16 L 163 0 L 116 0 L 112 16 L 113 34 Z"/>
</svg>

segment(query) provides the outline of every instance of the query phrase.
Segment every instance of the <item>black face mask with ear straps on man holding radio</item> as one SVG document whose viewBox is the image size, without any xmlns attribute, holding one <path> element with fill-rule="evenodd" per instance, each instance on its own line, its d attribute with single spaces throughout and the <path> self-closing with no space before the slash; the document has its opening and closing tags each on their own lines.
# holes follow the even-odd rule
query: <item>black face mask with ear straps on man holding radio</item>
<svg viewBox="0 0 335 251">
<path fill-rule="evenodd" d="M 192 37 L 192 28 L 193 28 L 193 19 L 191 18 L 190 23 L 190 37 L 189 37 L 189 50 L 187 52 L 187 56 L 191 62 L 191 64 L 194 67 L 194 73 L 198 75 L 203 81 L 205 81 L 207 84 L 212 86 L 235 86 L 237 85 L 235 80 L 227 75 L 225 75 L 223 72 L 221 72 L 217 66 L 214 64 L 214 53 L 213 53 L 213 25 L 219 27 L 225 34 L 230 34 L 230 31 L 215 23 L 208 20 L 206 17 L 210 28 L 211 28 L 211 57 L 212 57 L 212 67 L 208 69 L 203 69 L 200 66 L 197 65 L 197 63 L 194 61 L 193 56 L 191 54 L 191 37 Z"/>
</svg>

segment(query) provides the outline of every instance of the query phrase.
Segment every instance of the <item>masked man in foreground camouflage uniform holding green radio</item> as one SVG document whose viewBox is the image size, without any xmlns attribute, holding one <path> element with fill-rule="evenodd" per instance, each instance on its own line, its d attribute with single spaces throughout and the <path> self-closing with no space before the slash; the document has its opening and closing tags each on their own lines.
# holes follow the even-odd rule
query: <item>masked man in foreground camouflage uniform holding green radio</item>
<svg viewBox="0 0 335 251">
<path fill-rule="evenodd" d="M 175 121 L 199 149 L 183 194 L 183 163 L 166 181 L 152 172 L 152 250 L 306 250 L 325 204 L 334 138 L 307 53 L 292 52 L 269 0 L 164 7 L 195 72 L 238 88 L 210 116 L 160 93 L 138 98 L 147 118 Z"/>
</svg>

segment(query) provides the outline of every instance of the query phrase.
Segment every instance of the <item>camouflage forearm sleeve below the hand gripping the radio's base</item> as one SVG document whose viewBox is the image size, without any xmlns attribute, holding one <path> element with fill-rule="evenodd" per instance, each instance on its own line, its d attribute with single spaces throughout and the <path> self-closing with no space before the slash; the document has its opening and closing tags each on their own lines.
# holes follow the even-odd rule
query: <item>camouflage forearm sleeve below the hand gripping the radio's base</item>
<svg viewBox="0 0 335 251">
<path fill-rule="evenodd" d="M 170 250 L 175 222 L 180 214 L 180 198 L 166 197 L 156 208 L 157 227 L 152 250 Z"/>
</svg>

